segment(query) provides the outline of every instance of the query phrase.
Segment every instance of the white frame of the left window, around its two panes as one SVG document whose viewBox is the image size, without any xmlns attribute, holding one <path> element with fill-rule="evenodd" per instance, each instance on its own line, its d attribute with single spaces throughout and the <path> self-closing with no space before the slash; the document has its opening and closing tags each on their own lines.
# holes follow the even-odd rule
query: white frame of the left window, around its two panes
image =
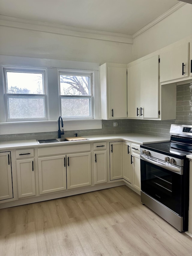
<svg viewBox="0 0 192 256">
<path fill-rule="evenodd" d="M 46 68 L 26 67 L 26 66 L 2 66 L 3 72 L 3 89 L 4 89 L 4 107 L 6 122 L 25 122 L 25 121 L 47 121 L 48 120 L 48 100 L 47 100 L 47 72 Z M 7 72 L 15 73 L 32 73 L 42 74 L 43 79 L 43 94 L 21 94 L 8 93 Z M 43 98 L 44 99 L 44 118 L 9 118 L 9 102 L 8 99 L 14 98 Z"/>
</svg>

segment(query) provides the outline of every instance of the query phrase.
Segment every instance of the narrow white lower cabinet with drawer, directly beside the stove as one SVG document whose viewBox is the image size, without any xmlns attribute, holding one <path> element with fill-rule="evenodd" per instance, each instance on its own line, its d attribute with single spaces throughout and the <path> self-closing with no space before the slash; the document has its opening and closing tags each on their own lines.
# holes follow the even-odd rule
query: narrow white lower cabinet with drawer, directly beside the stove
<svg viewBox="0 0 192 256">
<path fill-rule="evenodd" d="M 131 164 L 132 164 L 132 185 L 138 191 L 141 190 L 141 171 L 140 171 L 140 145 L 131 145 Z"/>
</svg>

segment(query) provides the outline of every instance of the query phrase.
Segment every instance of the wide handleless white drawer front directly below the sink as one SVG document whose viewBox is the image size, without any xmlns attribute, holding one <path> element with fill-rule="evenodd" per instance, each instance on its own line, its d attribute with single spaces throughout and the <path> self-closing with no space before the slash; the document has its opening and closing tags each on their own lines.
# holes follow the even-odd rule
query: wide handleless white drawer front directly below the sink
<svg viewBox="0 0 192 256">
<path fill-rule="evenodd" d="M 78 145 L 68 145 L 68 146 L 55 146 L 38 148 L 38 156 L 45 155 L 64 155 L 75 152 L 87 152 L 91 151 L 91 144 L 78 144 Z"/>
</svg>

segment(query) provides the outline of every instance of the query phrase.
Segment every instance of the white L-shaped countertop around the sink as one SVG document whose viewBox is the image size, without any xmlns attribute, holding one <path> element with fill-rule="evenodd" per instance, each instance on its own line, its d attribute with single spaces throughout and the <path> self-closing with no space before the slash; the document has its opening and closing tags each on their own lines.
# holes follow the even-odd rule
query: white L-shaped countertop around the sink
<svg viewBox="0 0 192 256">
<path fill-rule="evenodd" d="M 79 141 L 67 141 L 67 142 L 56 142 L 56 143 L 44 143 L 38 144 L 36 140 L 14 140 L 14 141 L 4 141 L 0 142 L 0 150 L 7 150 L 13 148 L 26 148 L 26 147 L 47 147 L 47 146 L 61 146 L 61 145 L 72 145 L 79 143 L 90 143 L 98 141 L 113 141 L 113 140 L 126 140 L 139 144 L 146 143 L 156 143 L 156 142 L 165 142 L 170 141 L 170 139 L 165 137 L 150 136 L 145 134 L 137 133 L 125 133 L 125 134 L 105 134 L 105 135 L 91 135 L 83 136 L 88 140 L 79 140 Z M 191 155 L 192 156 L 192 155 Z"/>
</svg>

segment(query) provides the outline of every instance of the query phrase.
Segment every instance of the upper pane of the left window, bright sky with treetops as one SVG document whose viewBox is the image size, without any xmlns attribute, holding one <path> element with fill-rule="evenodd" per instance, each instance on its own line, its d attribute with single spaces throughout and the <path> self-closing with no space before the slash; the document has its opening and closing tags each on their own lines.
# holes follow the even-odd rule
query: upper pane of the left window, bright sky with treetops
<svg viewBox="0 0 192 256">
<path fill-rule="evenodd" d="M 43 74 L 7 71 L 7 92 L 44 94 Z"/>
</svg>

